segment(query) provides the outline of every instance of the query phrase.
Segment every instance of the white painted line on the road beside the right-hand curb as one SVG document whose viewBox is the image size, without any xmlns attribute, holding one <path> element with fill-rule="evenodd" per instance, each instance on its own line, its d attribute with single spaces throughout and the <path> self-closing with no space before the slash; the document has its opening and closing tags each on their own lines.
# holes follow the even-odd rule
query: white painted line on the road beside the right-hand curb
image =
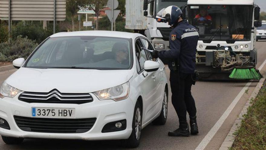
<svg viewBox="0 0 266 150">
<path fill-rule="evenodd" d="M 266 64 L 265 61 L 261 64 L 261 66 L 258 68 L 261 70 L 263 66 Z M 225 122 L 225 119 L 229 116 L 229 114 L 232 112 L 235 105 L 238 103 L 242 95 L 245 93 L 245 91 L 248 89 L 251 82 L 248 82 L 242 90 L 238 93 L 238 95 L 235 97 L 233 102 L 229 105 L 229 107 L 226 109 L 226 111 L 222 114 L 221 118 L 216 122 L 216 124 L 211 128 L 211 130 L 208 132 L 208 134 L 203 138 L 203 140 L 200 142 L 200 144 L 197 146 L 195 150 L 203 150 L 206 148 L 206 146 L 209 144 L 213 136 L 216 134 L 216 132 L 219 130 L 219 128 L 222 126 L 222 124 Z"/>
</svg>

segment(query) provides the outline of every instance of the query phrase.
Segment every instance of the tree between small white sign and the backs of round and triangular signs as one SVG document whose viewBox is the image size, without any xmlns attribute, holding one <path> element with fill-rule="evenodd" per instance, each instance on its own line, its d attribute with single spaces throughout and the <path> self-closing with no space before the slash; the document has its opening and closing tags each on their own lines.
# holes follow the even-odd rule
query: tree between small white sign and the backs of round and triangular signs
<svg viewBox="0 0 266 150">
<path fill-rule="evenodd" d="M 107 5 L 107 0 L 87 0 L 89 8 L 95 12 L 96 15 L 96 30 L 98 30 L 99 11 Z"/>
</svg>

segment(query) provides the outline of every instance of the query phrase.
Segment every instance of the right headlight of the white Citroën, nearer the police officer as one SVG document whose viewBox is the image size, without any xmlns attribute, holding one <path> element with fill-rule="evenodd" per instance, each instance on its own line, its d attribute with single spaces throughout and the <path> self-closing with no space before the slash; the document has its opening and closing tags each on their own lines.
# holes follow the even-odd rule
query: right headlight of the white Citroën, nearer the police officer
<svg viewBox="0 0 266 150">
<path fill-rule="evenodd" d="M 121 101 L 128 98 L 129 82 L 118 85 L 112 88 L 107 88 L 101 91 L 93 92 L 99 100 L 112 99 L 114 101 Z"/>
</svg>

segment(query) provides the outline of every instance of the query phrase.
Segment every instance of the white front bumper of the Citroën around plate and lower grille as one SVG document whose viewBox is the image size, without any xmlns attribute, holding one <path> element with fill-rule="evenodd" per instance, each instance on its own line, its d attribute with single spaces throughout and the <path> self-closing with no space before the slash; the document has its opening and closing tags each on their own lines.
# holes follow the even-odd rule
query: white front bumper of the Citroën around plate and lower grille
<svg viewBox="0 0 266 150">
<path fill-rule="evenodd" d="M 19 93 L 20 94 L 20 93 Z M 18 94 L 18 95 L 19 95 Z M 0 135 L 16 138 L 55 138 L 55 139 L 81 139 L 81 140 L 116 140 L 127 139 L 132 131 L 132 118 L 134 104 L 130 98 L 115 102 L 113 100 L 100 101 L 95 95 L 94 101 L 86 104 L 49 104 L 26 103 L 15 98 L 0 98 L 0 118 L 5 119 L 10 130 L 0 128 Z M 75 118 L 97 118 L 93 127 L 85 133 L 40 133 L 21 130 L 15 122 L 14 115 L 31 117 L 32 107 L 43 108 L 75 108 Z M 125 130 L 102 133 L 102 128 L 109 122 L 126 119 Z"/>
</svg>

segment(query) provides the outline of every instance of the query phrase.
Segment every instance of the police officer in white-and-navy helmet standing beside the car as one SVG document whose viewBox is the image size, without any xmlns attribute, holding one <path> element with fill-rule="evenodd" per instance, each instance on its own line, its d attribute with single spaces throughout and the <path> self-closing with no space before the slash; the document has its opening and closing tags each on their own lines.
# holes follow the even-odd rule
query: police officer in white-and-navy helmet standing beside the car
<svg viewBox="0 0 266 150">
<path fill-rule="evenodd" d="M 168 63 L 172 104 L 179 118 L 179 128 L 168 132 L 169 136 L 189 136 L 199 133 L 196 122 L 196 106 L 191 95 L 191 86 L 196 65 L 196 47 L 199 34 L 196 28 L 182 19 L 182 11 L 177 6 L 169 6 L 158 12 L 157 22 L 165 22 L 173 28 L 169 38 L 169 51 L 153 51 L 154 58 Z M 187 124 L 187 112 L 190 129 Z"/>
</svg>

